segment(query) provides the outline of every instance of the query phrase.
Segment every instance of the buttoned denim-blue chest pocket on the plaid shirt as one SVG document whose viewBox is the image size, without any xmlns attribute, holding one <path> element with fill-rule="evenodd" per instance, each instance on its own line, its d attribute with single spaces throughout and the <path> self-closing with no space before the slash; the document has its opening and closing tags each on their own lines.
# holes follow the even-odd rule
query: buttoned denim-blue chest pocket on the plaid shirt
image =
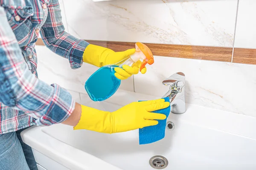
<svg viewBox="0 0 256 170">
<path fill-rule="evenodd" d="M 32 28 L 33 10 L 31 6 L 3 6 L 17 41 L 24 42 Z"/>
</svg>

